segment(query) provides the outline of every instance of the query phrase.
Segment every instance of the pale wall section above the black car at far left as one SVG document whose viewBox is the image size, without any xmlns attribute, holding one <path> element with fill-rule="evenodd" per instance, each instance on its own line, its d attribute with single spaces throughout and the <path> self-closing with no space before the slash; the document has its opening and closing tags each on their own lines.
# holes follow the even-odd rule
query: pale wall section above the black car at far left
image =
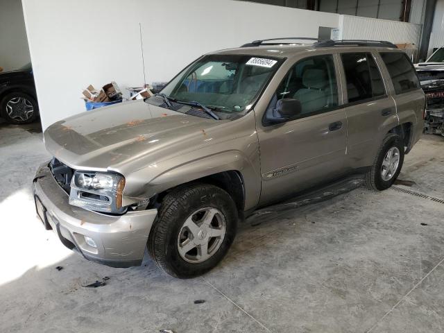
<svg viewBox="0 0 444 333">
<path fill-rule="evenodd" d="M 11 71 L 31 60 L 26 39 L 22 2 L 0 1 L 0 67 Z"/>
</svg>

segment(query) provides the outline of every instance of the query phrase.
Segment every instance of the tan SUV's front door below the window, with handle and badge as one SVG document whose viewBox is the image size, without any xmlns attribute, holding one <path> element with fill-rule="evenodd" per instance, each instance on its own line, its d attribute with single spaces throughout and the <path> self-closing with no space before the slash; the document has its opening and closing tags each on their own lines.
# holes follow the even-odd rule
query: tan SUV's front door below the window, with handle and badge
<svg viewBox="0 0 444 333">
<path fill-rule="evenodd" d="M 278 201 L 338 176 L 344 167 L 345 130 L 344 110 L 259 128 L 260 204 Z"/>
</svg>

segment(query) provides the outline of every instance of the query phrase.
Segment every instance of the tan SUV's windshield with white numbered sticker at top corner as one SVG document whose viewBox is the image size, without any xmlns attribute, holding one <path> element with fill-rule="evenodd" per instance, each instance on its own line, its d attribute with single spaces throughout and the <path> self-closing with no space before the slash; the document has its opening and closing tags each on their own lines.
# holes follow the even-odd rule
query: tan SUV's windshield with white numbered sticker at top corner
<svg viewBox="0 0 444 333">
<path fill-rule="evenodd" d="M 204 56 L 173 78 L 162 94 L 221 112 L 248 111 L 281 62 L 268 57 Z"/>
</svg>

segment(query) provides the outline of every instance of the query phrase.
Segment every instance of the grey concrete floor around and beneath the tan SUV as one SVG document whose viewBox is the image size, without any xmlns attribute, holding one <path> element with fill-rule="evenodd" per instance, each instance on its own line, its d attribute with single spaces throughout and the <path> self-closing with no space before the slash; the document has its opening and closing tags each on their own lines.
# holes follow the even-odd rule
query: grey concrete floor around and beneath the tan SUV
<svg viewBox="0 0 444 333">
<path fill-rule="evenodd" d="M 444 197 L 444 137 L 407 155 L 400 179 L 411 187 L 249 219 L 194 280 L 148 258 L 121 269 L 71 253 L 35 217 L 31 181 L 49 159 L 41 134 L 0 124 L 0 156 L 0 332 L 444 330 L 444 204 L 400 191 Z"/>
</svg>

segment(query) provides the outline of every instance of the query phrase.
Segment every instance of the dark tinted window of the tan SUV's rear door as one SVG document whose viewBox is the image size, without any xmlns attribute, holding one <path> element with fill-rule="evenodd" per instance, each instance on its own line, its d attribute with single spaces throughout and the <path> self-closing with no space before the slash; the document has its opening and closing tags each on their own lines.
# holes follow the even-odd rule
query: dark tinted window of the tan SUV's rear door
<svg viewBox="0 0 444 333">
<path fill-rule="evenodd" d="M 371 53 L 342 53 L 348 103 L 385 94 L 384 83 Z"/>
</svg>

